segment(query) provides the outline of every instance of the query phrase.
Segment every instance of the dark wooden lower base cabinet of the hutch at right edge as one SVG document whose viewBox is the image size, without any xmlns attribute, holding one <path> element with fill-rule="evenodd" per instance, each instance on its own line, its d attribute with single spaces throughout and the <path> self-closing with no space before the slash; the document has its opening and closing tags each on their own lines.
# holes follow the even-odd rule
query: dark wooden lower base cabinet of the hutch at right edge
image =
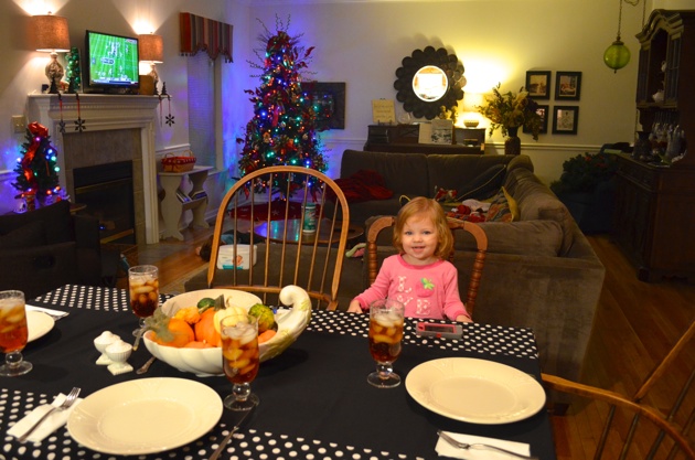
<svg viewBox="0 0 695 460">
<path fill-rule="evenodd" d="M 663 276 L 695 282 L 695 170 L 619 156 L 613 240 L 642 281 Z"/>
</svg>

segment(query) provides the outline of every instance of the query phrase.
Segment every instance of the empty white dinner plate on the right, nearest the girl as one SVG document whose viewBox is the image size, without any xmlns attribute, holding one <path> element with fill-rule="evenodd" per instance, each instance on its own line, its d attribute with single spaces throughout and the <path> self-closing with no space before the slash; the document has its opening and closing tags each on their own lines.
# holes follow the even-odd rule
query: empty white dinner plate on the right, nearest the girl
<svg viewBox="0 0 695 460">
<path fill-rule="evenodd" d="M 406 389 L 429 410 L 471 424 L 523 420 L 545 405 L 545 392 L 531 375 L 472 357 L 443 357 L 408 373 Z"/>
</svg>

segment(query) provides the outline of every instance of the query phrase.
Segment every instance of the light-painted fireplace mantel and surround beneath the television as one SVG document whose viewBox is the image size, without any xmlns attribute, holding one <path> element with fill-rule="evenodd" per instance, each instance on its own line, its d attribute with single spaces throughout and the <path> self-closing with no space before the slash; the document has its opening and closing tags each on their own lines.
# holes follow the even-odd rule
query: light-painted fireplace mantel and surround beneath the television
<svg viewBox="0 0 695 460">
<path fill-rule="evenodd" d="M 78 98 L 77 98 L 78 97 Z M 116 129 L 139 129 L 142 150 L 142 184 L 146 243 L 159 242 L 159 218 L 157 197 L 157 168 L 154 149 L 154 124 L 158 96 L 103 95 L 103 94 L 63 94 L 30 95 L 28 101 L 29 119 L 49 128 L 53 145 L 58 150 L 58 172 L 61 184 L 67 183 L 65 176 L 65 156 L 61 119 L 65 133 L 79 133 L 76 121 L 83 120 L 85 131 L 96 132 Z M 61 110 L 62 105 L 62 110 Z M 136 216 L 137 218 L 137 216 Z"/>
</svg>

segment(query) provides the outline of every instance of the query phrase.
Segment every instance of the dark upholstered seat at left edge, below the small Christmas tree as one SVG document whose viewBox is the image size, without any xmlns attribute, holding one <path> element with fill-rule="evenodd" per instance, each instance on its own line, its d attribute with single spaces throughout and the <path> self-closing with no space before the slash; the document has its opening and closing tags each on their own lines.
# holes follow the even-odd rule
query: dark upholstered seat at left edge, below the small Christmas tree
<svg viewBox="0 0 695 460">
<path fill-rule="evenodd" d="M 98 220 L 67 201 L 0 216 L 0 290 L 31 299 L 67 284 L 101 284 Z"/>
</svg>

